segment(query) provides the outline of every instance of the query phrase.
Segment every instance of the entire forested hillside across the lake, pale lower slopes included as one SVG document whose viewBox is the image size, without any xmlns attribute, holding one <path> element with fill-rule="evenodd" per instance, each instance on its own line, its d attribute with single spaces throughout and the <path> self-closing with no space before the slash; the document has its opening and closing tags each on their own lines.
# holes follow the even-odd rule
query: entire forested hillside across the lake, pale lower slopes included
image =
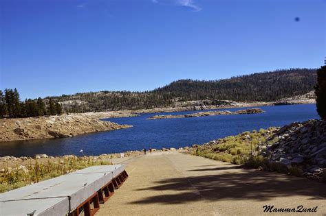
<svg viewBox="0 0 326 216">
<path fill-rule="evenodd" d="M 175 101 L 210 99 L 211 105 L 220 100 L 276 101 L 314 90 L 316 69 L 288 69 L 242 75 L 226 80 L 178 80 L 162 88 L 146 92 L 77 93 L 47 97 L 59 101 L 68 112 L 144 109 L 173 106 Z"/>
</svg>

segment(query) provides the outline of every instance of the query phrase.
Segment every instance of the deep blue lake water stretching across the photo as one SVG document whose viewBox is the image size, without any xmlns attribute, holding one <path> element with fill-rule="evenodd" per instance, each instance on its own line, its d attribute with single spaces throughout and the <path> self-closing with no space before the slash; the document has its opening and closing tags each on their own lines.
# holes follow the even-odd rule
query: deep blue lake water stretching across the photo
<svg viewBox="0 0 326 216">
<path fill-rule="evenodd" d="M 120 124 L 133 125 L 133 128 L 83 134 L 74 138 L 45 139 L 37 141 L 14 141 L 0 143 L 0 156 L 32 156 L 47 154 L 62 156 L 65 154 L 98 155 L 104 153 L 125 152 L 149 147 L 184 147 L 202 144 L 213 139 L 239 134 L 248 130 L 259 130 L 270 126 L 283 126 L 293 121 L 318 119 L 316 105 L 265 106 L 265 113 L 255 115 L 221 115 L 185 119 L 146 120 L 155 114 L 139 117 L 107 119 Z M 233 108 L 227 110 L 239 110 Z M 192 112 L 160 113 L 186 114 Z M 197 111 L 199 112 L 199 111 Z"/>
</svg>

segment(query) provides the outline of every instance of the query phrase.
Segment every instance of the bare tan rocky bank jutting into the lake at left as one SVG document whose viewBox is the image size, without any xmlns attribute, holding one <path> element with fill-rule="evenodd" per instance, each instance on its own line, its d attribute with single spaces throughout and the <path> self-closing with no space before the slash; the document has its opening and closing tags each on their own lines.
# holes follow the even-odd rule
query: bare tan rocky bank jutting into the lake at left
<svg viewBox="0 0 326 216">
<path fill-rule="evenodd" d="M 23 119 L 0 119 L 0 142 L 30 139 L 63 138 L 89 132 L 118 130 L 118 125 L 87 115 L 61 115 Z"/>
</svg>

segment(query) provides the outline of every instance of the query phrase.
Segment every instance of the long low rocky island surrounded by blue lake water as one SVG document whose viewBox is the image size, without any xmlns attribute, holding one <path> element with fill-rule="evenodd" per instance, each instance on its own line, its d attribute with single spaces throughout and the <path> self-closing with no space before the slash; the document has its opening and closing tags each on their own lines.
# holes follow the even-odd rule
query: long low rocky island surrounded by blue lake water
<svg viewBox="0 0 326 216">
<path fill-rule="evenodd" d="M 153 117 L 148 118 L 149 120 L 153 119 L 179 119 L 179 118 L 192 118 L 192 117 L 207 117 L 214 115 L 242 115 L 242 114 L 257 114 L 263 113 L 265 111 L 260 108 L 250 108 L 246 110 L 237 110 L 235 112 L 231 112 L 229 110 L 223 111 L 208 111 L 208 112 L 197 112 L 187 115 L 154 115 Z"/>
</svg>

